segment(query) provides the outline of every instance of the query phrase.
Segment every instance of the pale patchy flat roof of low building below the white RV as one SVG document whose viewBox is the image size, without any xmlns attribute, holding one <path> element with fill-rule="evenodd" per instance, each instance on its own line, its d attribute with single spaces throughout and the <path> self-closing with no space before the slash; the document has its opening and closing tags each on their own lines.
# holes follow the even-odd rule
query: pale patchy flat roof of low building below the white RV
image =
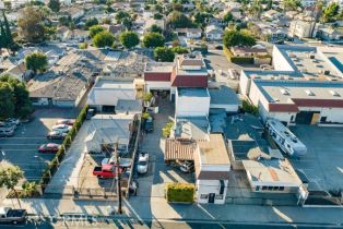
<svg viewBox="0 0 343 229">
<path fill-rule="evenodd" d="M 262 185 L 299 186 L 303 184 L 287 159 L 243 160 L 252 182 Z"/>
</svg>

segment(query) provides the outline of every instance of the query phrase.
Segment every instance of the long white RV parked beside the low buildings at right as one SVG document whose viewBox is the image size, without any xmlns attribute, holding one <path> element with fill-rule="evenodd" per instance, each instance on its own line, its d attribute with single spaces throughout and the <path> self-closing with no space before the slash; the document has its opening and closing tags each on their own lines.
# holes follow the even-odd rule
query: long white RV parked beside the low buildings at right
<svg viewBox="0 0 343 229">
<path fill-rule="evenodd" d="M 284 124 L 275 119 L 268 119 L 265 129 L 276 145 L 292 157 L 306 155 L 307 147 Z"/>
</svg>

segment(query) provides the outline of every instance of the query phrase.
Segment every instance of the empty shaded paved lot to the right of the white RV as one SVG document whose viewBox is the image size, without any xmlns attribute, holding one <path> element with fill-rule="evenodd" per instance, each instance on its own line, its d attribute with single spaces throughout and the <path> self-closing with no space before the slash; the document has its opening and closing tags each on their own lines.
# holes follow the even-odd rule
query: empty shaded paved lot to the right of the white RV
<svg viewBox="0 0 343 229">
<path fill-rule="evenodd" d="M 297 125 L 291 130 L 308 149 L 304 158 L 291 162 L 306 173 L 309 190 L 343 190 L 343 129 Z"/>
</svg>

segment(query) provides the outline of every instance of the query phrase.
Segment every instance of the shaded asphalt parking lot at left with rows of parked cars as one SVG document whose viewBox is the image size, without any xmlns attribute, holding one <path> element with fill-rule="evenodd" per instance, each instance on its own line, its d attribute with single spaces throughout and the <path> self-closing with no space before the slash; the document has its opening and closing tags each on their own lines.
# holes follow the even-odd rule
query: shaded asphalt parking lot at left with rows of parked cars
<svg viewBox="0 0 343 229">
<path fill-rule="evenodd" d="M 21 123 L 12 137 L 0 137 L 1 161 L 19 166 L 27 180 L 39 180 L 42 171 L 52 159 L 54 154 L 38 153 L 42 144 L 49 142 L 46 135 L 58 119 L 75 118 L 78 110 L 71 108 L 39 108 L 34 119 L 28 123 Z"/>
</svg>

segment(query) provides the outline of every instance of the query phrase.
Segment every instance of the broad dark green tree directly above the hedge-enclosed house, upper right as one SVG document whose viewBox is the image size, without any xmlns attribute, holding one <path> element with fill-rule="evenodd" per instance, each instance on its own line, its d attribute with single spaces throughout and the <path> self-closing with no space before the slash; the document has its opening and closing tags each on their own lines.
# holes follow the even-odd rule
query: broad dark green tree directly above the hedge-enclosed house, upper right
<svg viewBox="0 0 343 229">
<path fill-rule="evenodd" d="M 224 33 L 223 43 L 226 48 L 233 46 L 253 46 L 256 45 L 256 39 L 250 34 L 232 29 Z"/>
</svg>

